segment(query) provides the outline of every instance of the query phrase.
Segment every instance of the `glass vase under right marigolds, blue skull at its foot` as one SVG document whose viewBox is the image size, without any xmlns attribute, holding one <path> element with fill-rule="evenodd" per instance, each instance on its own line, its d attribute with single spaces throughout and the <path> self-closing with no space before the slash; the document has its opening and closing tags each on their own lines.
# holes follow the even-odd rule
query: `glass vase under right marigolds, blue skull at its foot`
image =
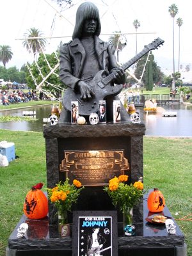
<svg viewBox="0 0 192 256">
<path fill-rule="evenodd" d="M 124 235 L 125 236 L 134 236 L 135 227 L 132 225 L 132 208 L 125 208 L 123 210 L 124 214 Z"/>
</svg>

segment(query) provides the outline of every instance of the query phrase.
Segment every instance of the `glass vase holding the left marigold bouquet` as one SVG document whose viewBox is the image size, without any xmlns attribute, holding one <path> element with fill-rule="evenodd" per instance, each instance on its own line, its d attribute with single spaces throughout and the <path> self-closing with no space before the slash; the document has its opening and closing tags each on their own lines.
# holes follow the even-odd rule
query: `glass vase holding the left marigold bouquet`
<svg viewBox="0 0 192 256">
<path fill-rule="evenodd" d="M 67 211 L 58 211 L 58 229 L 62 237 L 70 236 L 70 225 L 67 222 Z"/>
</svg>

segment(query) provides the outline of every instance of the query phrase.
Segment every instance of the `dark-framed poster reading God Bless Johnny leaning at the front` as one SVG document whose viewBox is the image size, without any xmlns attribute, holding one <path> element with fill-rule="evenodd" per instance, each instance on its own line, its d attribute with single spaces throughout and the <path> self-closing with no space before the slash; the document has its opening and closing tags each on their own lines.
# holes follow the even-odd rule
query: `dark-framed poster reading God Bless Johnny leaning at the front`
<svg viewBox="0 0 192 256">
<path fill-rule="evenodd" d="M 116 211 L 74 211 L 72 256 L 117 256 Z"/>
</svg>

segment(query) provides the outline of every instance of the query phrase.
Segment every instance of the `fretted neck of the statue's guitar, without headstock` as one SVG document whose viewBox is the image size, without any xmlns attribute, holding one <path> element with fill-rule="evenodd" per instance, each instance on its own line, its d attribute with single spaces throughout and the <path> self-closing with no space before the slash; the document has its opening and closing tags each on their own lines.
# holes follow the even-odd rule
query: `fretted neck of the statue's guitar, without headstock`
<svg viewBox="0 0 192 256">
<path fill-rule="evenodd" d="M 147 52 L 149 52 L 150 49 L 148 49 L 147 47 L 145 49 L 143 49 L 143 51 L 141 51 L 140 53 L 138 53 L 136 56 L 134 56 L 131 60 L 127 61 L 126 63 L 124 63 L 124 65 L 122 65 L 122 69 L 125 71 L 127 68 L 131 67 L 131 65 L 133 63 L 135 63 L 136 61 L 140 60 L 141 57 L 143 57 Z M 113 81 L 114 79 L 114 75 L 115 72 L 112 72 L 111 74 L 109 74 L 108 76 L 104 77 L 102 79 L 102 83 L 103 84 L 108 84 L 111 81 Z"/>
</svg>

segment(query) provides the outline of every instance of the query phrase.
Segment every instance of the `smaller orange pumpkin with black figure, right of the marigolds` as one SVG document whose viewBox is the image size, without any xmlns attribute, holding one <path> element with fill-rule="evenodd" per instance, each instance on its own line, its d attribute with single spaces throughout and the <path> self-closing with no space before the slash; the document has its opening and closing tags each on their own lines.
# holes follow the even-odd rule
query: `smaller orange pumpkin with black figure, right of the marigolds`
<svg viewBox="0 0 192 256">
<path fill-rule="evenodd" d="M 159 189 L 154 188 L 148 195 L 147 206 L 150 212 L 162 212 L 164 209 L 165 200 L 164 196 Z"/>
</svg>

